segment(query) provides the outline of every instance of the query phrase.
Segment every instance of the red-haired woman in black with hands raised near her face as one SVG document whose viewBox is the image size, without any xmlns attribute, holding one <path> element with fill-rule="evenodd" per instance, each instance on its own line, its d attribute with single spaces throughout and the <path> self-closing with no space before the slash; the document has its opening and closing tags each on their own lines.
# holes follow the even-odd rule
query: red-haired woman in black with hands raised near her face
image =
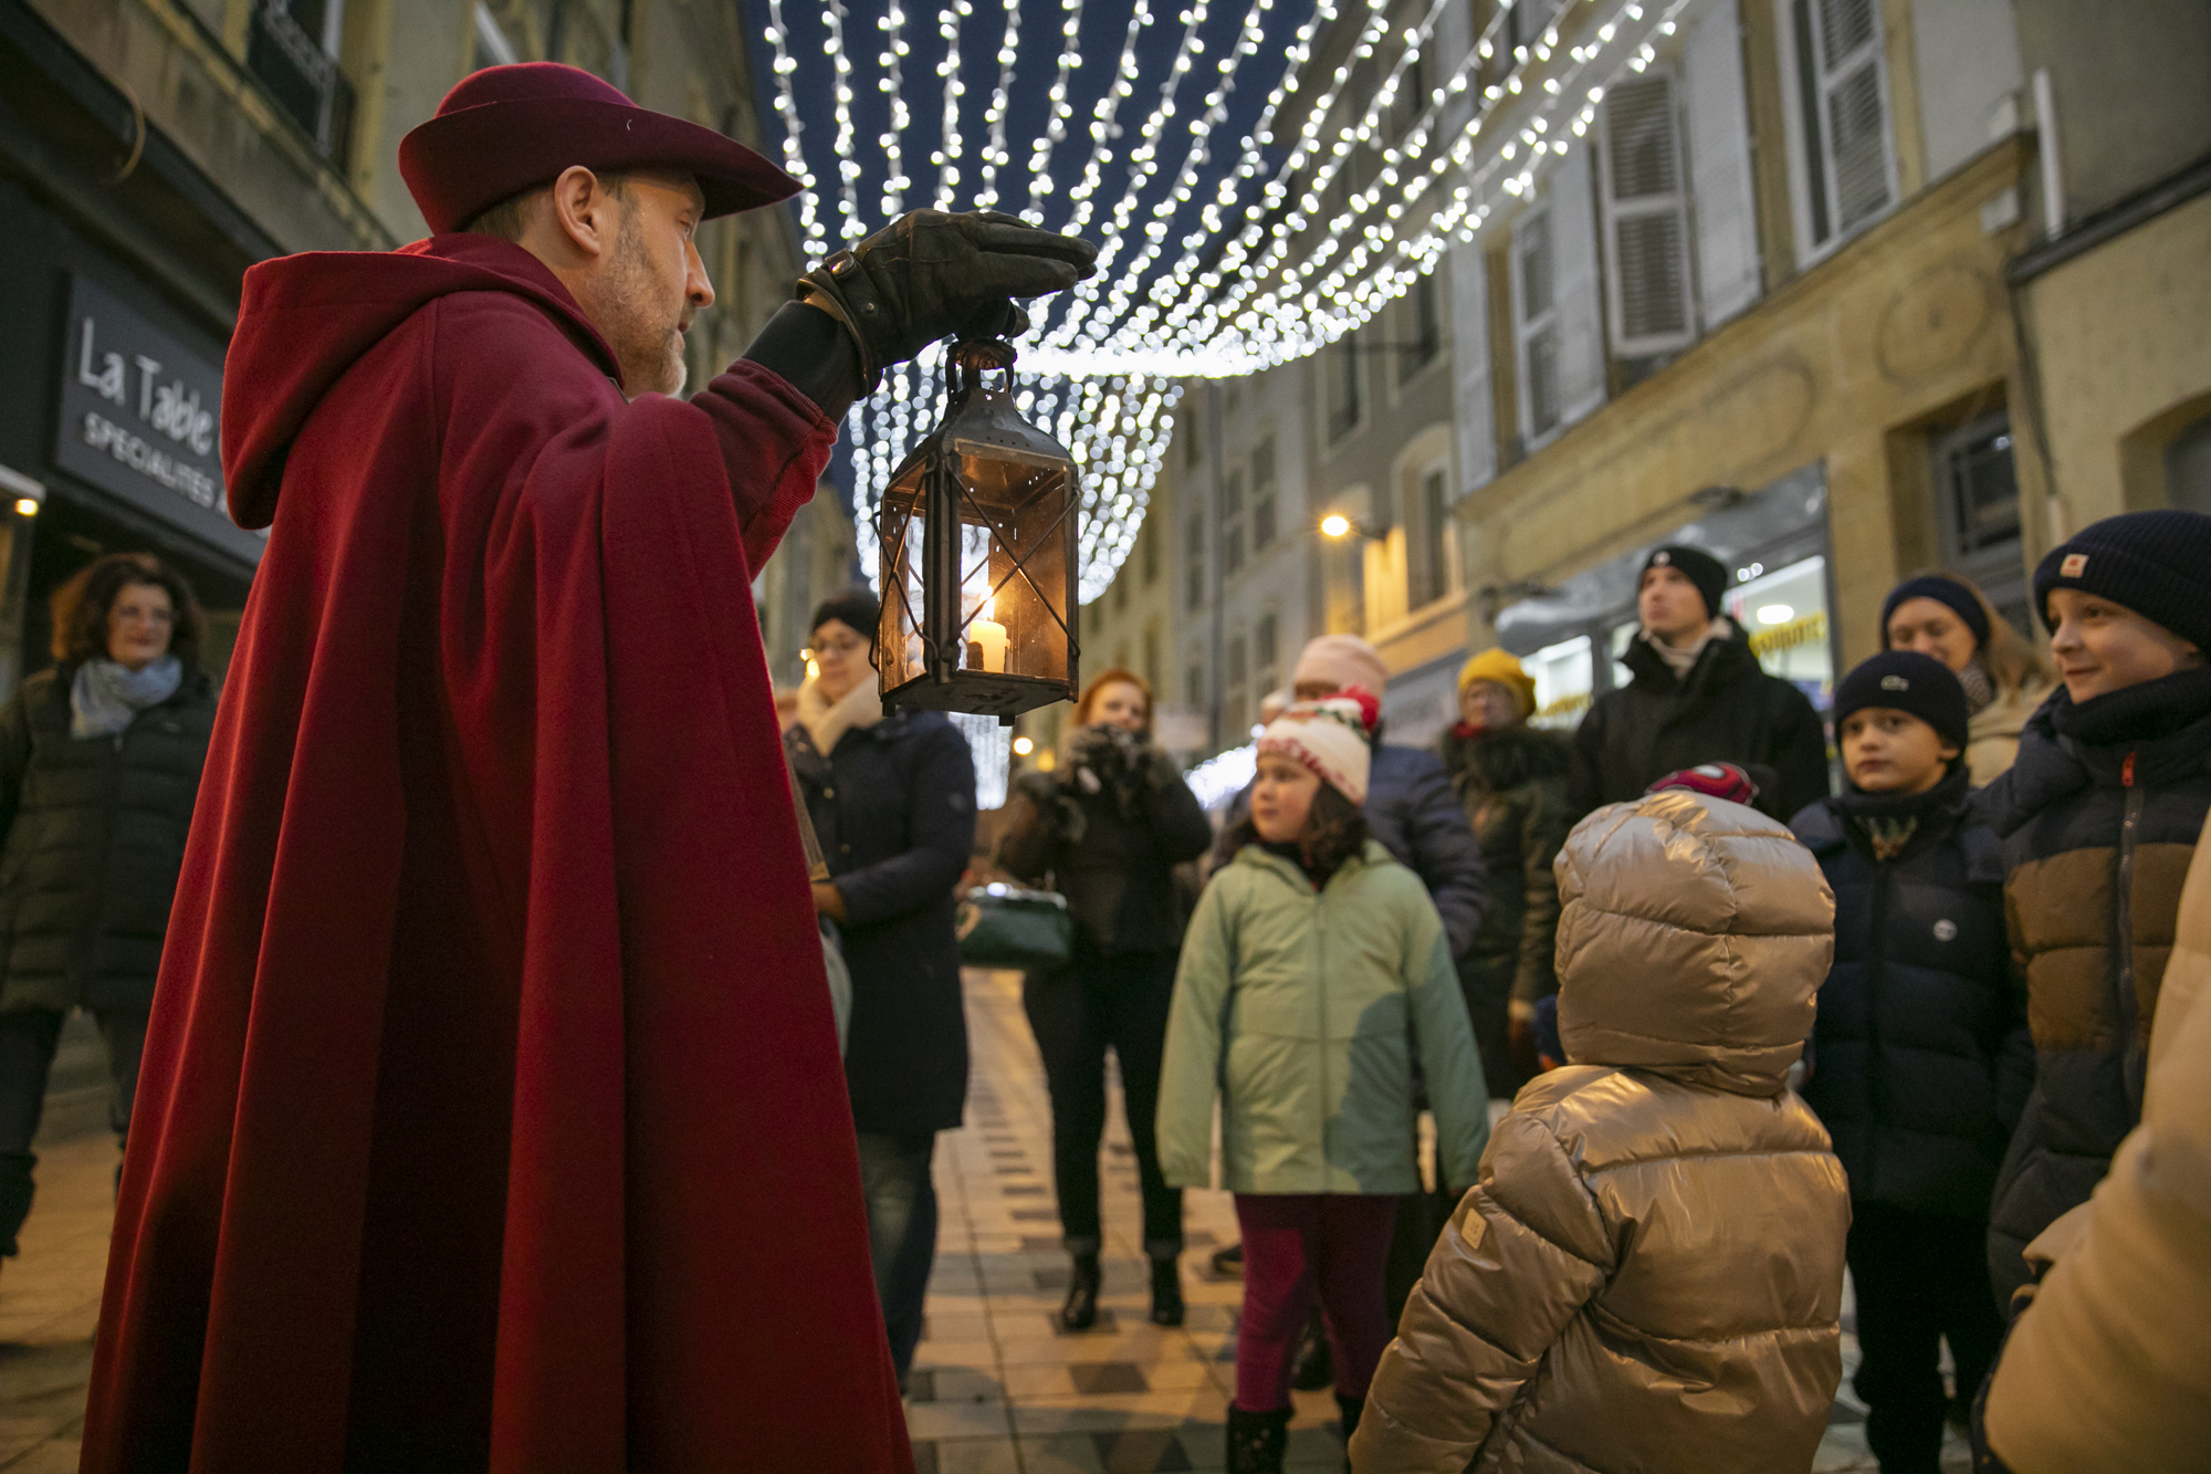
<svg viewBox="0 0 2211 1474">
<path fill-rule="evenodd" d="M 999 841 L 999 865 L 1028 881 L 1052 876 L 1075 914 L 1075 965 L 1030 974 L 1021 989 L 1052 1093 L 1052 1177 L 1075 1257 L 1059 1310 L 1068 1330 L 1097 1324 L 1108 1045 L 1121 1062 L 1121 1107 L 1143 1188 L 1152 1319 L 1183 1324 L 1183 1195 L 1159 1171 L 1154 1115 L 1183 949 L 1174 868 L 1205 854 L 1212 839 L 1183 775 L 1152 746 L 1152 688 L 1130 671 L 1106 671 L 1075 704 L 1059 770 L 1021 777 Z"/>
</svg>

